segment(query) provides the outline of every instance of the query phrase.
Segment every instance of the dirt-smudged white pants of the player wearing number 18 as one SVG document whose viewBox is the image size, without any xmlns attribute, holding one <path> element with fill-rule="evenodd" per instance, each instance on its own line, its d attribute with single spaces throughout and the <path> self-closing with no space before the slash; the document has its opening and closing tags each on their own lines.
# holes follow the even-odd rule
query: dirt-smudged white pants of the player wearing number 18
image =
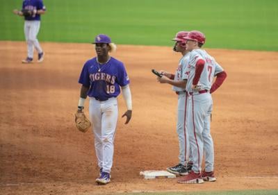
<svg viewBox="0 0 278 195">
<path fill-rule="evenodd" d="M 106 173 L 111 172 L 114 153 L 114 137 L 117 126 L 117 98 L 97 101 L 90 98 L 90 120 L 95 135 L 95 151 L 99 168 Z"/>
</svg>

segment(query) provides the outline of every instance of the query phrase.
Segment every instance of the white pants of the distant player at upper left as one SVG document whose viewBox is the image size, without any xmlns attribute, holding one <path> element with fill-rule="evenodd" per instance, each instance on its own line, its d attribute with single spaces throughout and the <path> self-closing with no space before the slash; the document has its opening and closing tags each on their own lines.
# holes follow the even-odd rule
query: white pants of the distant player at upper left
<svg viewBox="0 0 278 195">
<path fill-rule="evenodd" d="M 40 47 L 40 43 L 37 39 L 37 35 L 40 31 L 40 21 L 28 21 L 24 22 L 24 35 L 25 40 L 27 42 L 27 57 L 33 59 L 34 55 L 34 47 L 38 51 L 38 53 L 42 53 L 42 48 Z"/>
</svg>

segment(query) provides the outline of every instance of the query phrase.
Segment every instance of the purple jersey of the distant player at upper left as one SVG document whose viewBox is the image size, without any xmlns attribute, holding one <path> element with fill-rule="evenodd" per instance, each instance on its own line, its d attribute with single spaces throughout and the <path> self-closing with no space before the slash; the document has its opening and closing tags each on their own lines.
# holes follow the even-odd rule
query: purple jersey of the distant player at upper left
<svg viewBox="0 0 278 195">
<path fill-rule="evenodd" d="M 27 10 L 46 10 L 42 0 L 24 0 L 22 3 L 22 9 Z M 35 14 L 29 17 L 24 17 L 25 20 L 40 20 L 40 15 Z"/>
</svg>

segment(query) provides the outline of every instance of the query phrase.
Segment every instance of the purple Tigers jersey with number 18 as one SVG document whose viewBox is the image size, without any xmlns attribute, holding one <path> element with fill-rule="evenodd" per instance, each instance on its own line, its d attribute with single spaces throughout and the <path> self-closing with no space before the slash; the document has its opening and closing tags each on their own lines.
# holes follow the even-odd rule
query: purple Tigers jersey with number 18
<svg viewBox="0 0 278 195">
<path fill-rule="evenodd" d="M 79 83 L 90 87 L 88 96 L 95 97 L 99 101 L 106 101 L 120 94 L 120 86 L 129 84 L 124 64 L 111 57 L 104 65 L 99 65 L 97 58 L 85 62 Z"/>
</svg>

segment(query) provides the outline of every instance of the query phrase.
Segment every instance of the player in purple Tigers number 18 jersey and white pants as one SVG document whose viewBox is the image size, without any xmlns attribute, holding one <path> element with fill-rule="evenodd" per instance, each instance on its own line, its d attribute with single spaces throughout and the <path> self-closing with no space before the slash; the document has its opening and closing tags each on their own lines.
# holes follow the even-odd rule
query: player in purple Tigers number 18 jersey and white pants
<svg viewBox="0 0 278 195">
<path fill-rule="evenodd" d="M 100 169 L 96 182 L 106 184 L 111 180 L 113 142 L 118 117 L 117 96 L 122 89 L 127 107 L 122 117 L 126 117 L 125 124 L 128 124 L 132 114 L 131 91 L 124 64 L 109 55 L 109 52 L 116 49 L 111 38 L 103 34 L 97 35 L 93 44 L 95 44 L 97 57 L 85 62 L 81 71 L 78 112 L 82 112 L 84 101 L 89 96 L 89 115 L 95 135 L 95 151 Z"/>
</svg>

